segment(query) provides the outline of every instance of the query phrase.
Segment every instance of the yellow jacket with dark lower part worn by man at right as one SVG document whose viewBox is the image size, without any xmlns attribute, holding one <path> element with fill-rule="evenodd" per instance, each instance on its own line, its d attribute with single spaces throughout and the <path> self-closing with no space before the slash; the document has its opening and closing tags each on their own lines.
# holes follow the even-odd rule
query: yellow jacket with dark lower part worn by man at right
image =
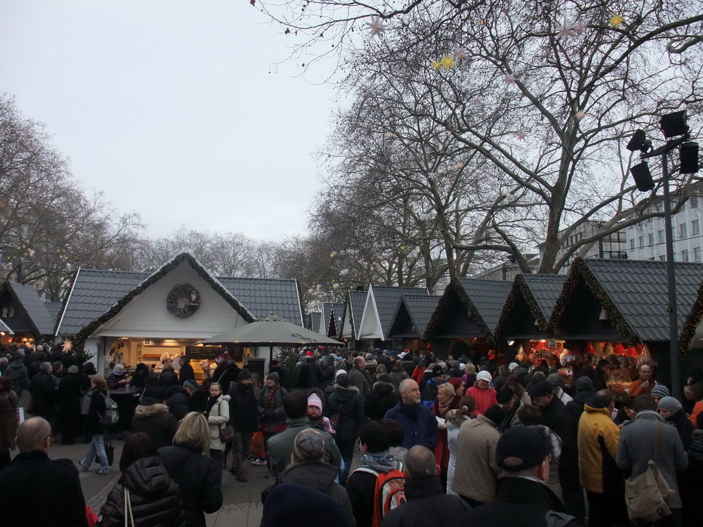
<svg viewBox="0 0 703 527">
<path fill-rule="evenodd" d="M 610 410 L 584 405 L 579 419 L 579 479 L 583 488 L 593 493 L 605 492 L 603 481 L 614 476 L 608 467 L 614 467 L 619 441 L 620 429 L 612 422 Z M 605 463 L 602 449 L 611 457 Z"/>
</svg>

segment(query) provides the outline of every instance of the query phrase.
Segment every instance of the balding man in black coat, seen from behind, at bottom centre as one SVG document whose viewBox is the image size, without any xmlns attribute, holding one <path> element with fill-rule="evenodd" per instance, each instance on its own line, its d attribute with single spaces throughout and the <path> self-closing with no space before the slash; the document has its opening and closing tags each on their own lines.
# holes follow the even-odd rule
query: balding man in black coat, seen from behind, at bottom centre
<svg viewBox="0 0 703 527">
<path fill-rule="evenodd" d="M 470 509 L 457 495 L 444 493 L 432 450 L 420 445 L 408 450 L 404 473 L 407 501 L 387 512 L 383 527 L 455 526 Z"/>
</svg>

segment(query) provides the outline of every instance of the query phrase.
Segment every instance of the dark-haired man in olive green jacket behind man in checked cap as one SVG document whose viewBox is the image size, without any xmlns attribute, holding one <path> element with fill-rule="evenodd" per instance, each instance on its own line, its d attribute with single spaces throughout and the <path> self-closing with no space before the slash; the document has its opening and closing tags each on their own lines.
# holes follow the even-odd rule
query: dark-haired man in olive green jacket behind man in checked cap
<svg viewBox="0 0 703 527">
<path fill-rule="evenodd" d="M 312 428 L 307 418 L 307 395 L 304 391 L 292 391 L 283 398 L 283 409 L 288 418 L 288 428 L 269 438 L 269 460 L 276 481 L 290 464 L 295 436 L 304 429 Z M 335 439 L 328 431 L 316 429 L 325 439 L 325 461 L 333 467 L 340 467 L 342 455 Z"/>
</svg>

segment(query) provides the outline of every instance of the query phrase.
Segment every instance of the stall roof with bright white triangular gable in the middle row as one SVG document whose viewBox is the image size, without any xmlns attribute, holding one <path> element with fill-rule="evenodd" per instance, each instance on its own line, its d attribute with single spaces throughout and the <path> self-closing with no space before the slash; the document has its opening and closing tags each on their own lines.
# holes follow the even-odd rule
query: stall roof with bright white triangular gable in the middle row
<svg viewBox="0 0 703 527">
<path fill-rule="evenodd" d="M 363 308 L 359 337 L 362 339 L 388 340 L 393 315 L 398 301 L 404 294 L 429 295 L 427 289 L 420 287 L 392 287 L 385 285 L 370 285 L 368 297 Z"/>
</svg>

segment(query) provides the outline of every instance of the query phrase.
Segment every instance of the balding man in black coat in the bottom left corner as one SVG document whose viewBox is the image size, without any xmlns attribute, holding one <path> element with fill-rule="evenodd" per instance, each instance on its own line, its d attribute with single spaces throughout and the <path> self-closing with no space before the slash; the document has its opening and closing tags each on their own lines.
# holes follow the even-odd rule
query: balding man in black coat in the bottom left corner
<svg viewBox="0 0 703 527">
<path fill-rule="evenodd" d="M 18 427 L 15 443 L 20 453 L 0 471 L 2 524 L 87 527 L 86 503 L 75 464 L 49 459 L 49 422 L 42 417 L 27 419 Z"/>
</svg>

